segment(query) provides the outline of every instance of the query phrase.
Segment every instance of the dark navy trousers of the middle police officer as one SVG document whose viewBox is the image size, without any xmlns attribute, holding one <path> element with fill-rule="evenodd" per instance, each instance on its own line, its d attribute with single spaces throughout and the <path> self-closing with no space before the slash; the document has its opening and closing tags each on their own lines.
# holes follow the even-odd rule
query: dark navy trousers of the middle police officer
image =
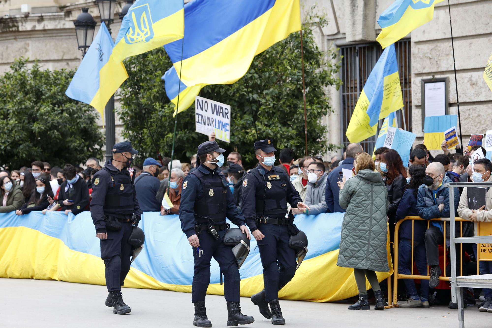
<svg viewBox="0 0 492 328">
<path fill-rule="evenodd" d="M 238 262 L 232 254 L 232 247 L 224 244 L 224 235 L 226 230 L 217 231 L 220 235 L 218 240 L 206 230 L 202 230 L 198 239 L 200 246 L 198 249 L 193 247 L 193 283 L 191 285 L 191 302 L 205 301 L 207 288 L 210 284 L 210 261 L 212 258 L 217 261 L 220 272 L 224 275 L 224 298 L 228 302 L 239 302 L 239 287 L 241 277 L 239 275 Z"/>
</svg>

